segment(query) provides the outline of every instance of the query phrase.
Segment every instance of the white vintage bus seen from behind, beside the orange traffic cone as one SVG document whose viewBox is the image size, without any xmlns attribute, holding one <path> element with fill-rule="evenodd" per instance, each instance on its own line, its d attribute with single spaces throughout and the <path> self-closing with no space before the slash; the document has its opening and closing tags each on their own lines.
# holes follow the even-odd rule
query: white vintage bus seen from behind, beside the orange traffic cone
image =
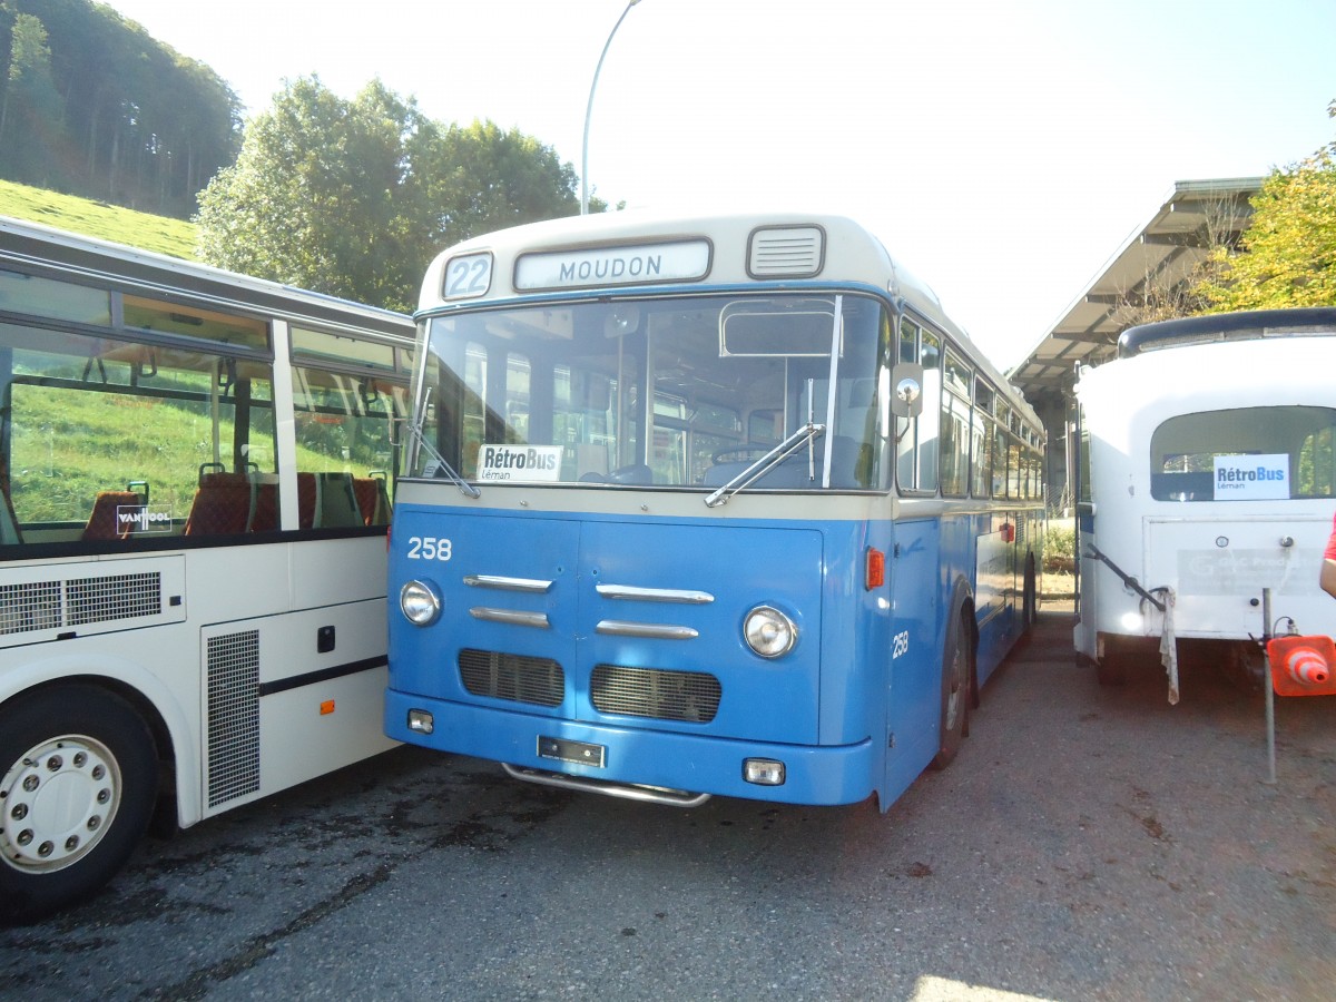
<svg viewBox="0 0 1336 1002">
<path fill-rule="evenodd" d="M 1336 633 L 1333 370 L 1336 309 L 1304 309 L 1133 327 L 1081 374 L 1075 648 L 1101 681 L 1158 656 L 1176 701 L 1184 644 L 1260 677 L 1268 627 Z"/>
</svg>

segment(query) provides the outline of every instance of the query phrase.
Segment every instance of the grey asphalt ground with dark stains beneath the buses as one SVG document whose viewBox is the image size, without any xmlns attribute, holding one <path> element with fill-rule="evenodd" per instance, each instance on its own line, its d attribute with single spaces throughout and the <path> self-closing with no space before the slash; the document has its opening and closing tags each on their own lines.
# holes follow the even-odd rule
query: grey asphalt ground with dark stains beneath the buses
<svg viewBox="0 0 1336 1002">
<path fill-rule="evenodd" d="M 0 930 L 21 999 L 1331 999 L 1336 700 L 1102 688 L 1047 609 L 886 815 L 549 791 L 401 748 Z"/>
</svg>

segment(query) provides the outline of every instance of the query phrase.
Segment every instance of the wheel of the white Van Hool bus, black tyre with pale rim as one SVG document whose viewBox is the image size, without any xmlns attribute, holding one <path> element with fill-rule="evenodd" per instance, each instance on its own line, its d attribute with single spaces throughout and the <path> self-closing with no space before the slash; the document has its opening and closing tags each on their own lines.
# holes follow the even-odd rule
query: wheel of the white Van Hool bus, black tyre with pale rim
<svg viewBox="0 0 1336 1002">
<path fill-rule="evenodd" d="M 31 922 L 106 884 L 156 791 L 152 735 L 123 699 L 59 685 L 0 709 L 0 922 Z"/>
</svg>

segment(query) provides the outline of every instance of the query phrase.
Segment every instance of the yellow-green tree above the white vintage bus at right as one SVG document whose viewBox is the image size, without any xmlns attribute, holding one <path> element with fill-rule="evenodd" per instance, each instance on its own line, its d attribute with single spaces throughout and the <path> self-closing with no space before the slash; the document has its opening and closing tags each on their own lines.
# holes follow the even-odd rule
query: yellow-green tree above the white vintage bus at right
<svg viewBox="0 0 1336 1002">
<path fill-rule="evenodd" d="M 1336 118 L 1336 102 L 1327 114 Z M 1212 313 L 1336 305 L 1336 142 L 1271 174 L 1237 254 L 1201 293 Z"/>
</svg>

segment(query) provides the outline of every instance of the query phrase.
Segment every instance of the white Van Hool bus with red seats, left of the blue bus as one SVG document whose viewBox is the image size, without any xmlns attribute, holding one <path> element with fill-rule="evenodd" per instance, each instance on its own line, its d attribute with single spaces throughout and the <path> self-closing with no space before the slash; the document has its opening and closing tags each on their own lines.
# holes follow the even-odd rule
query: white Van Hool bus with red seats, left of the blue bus
<svg viewBox="0 0 1336 1002">
<path fill-rule="evenodd" d="M 0 921 L 393 747 L 406 317 L 0 219 Z"/>
</svg>

